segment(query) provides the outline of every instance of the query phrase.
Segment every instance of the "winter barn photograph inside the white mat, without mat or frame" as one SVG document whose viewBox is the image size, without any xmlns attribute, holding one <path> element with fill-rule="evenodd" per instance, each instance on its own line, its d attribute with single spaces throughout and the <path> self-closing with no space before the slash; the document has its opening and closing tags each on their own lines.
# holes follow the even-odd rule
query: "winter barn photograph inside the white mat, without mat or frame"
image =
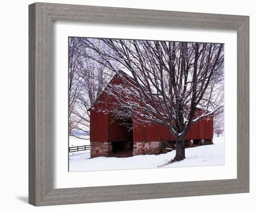
<svg viewBox="0 0 256 209">
<path fill-rule="evenodd" d="M 224 165 L 224 44 L 68 37 L 68 171 Z"/>
</svg>

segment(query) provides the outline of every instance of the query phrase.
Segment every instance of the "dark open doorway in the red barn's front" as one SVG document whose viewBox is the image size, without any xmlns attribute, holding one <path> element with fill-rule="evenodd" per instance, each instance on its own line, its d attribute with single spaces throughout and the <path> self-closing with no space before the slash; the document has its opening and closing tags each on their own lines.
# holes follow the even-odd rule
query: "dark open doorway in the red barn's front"
<svg viewBox="0 0 256 209">
<path fill-rule="evenodd" d="M 112 144 L 113 156 L 130 157 L 133 155 L 132 120 L 110 118 L 108 140 Z"/>
</svg>

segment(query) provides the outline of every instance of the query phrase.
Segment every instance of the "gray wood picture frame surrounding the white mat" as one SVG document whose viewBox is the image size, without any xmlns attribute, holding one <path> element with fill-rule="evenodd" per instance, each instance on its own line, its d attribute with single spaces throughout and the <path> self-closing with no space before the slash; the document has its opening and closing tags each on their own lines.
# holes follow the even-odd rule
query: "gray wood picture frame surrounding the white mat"
<svg viewBox="0 0 256 209">
<path fill-rule="evenodd" d="M 53 21 L 237 31 L 237 179 L 53 189 Z M 115 7 L 29 5 L 29 203 L 35 206 L 249 192 L 249 17 Z"/>
</svg>

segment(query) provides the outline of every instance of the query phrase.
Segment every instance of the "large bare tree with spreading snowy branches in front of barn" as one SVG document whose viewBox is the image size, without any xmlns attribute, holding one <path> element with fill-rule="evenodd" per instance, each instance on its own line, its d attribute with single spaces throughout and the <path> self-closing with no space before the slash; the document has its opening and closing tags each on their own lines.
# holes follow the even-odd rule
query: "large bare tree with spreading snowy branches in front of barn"
<svg viewBox="0 0 256 209">
<path fill-rule="evenodd" d="M 216 81 L 223 74 L 223 44 L 123 39 L 81 39 L 81 44 L 94 51 L 84 57 L 123 79 L 105 91 L 126 114 L 136 123 L 165 126 L 175 136 L 175 160 L 185 158 L 184 138 L 191 125 L 222 111 L 222 85 Z"/>
</svg>

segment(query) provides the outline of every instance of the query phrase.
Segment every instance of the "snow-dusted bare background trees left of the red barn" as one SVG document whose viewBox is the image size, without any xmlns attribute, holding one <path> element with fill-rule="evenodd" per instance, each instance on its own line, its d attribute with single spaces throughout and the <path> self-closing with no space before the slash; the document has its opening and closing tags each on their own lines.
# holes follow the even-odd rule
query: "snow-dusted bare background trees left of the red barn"
<svg viewBox="0 0 256 209">
<path fill-rule="evenodd" d="M 81 54 L 94 56 L 94 51 L 84 47 L 80 39 L 69 38 L 69 135 L 89 139 L 88 109 L 108 84 L 114 72 L 109 72 L 104 65 L 82 56 Z M 79 130 L 81 134 L 73 134 L 72 130 Z"/>
</svg>

